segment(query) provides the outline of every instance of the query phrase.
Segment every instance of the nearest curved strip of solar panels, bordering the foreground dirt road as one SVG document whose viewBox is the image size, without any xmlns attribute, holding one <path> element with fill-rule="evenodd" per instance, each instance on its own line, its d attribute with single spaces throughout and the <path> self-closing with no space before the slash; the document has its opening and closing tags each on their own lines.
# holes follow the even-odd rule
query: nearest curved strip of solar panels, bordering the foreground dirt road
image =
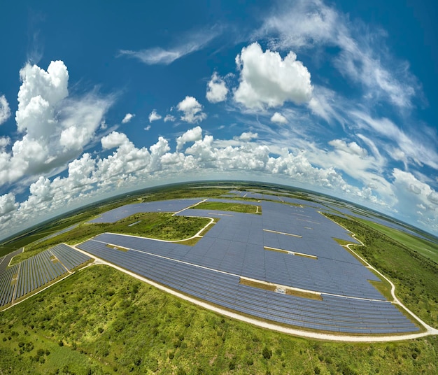
<svg viewBox="0 0 438 375">
<path fill-rule="evenodd" d="M 323 295 L 323 301 L 239 283 L 239 276 L 138 250 L 108 248 L 93 239 L 83 250 L 175 290 L 241 313 L 316 330 L 346 333 L 402 333 L 418 328 L 385 301 Z"/>
</svg>

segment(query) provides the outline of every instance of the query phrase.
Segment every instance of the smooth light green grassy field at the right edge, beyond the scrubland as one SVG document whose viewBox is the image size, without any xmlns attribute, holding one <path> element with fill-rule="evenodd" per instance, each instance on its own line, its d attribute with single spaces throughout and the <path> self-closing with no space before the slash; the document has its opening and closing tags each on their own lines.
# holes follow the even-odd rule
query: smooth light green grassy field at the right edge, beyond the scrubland
<svg viewBox="0 0 438 375">
<path fill-rule="evenodd" d="M 423 255 L 423 257 L 427 257 L 438 264 L 438 243 L 433 243 L 431 241 L 421 239 L 417 236 L 413 236 L 412 234 L 408 234 L 406 232 L 402 232 L 398 229 L 394 229 L 391 227 L 386 227 L 384 225 L 369 220 L 357 220 L 363 222 L 369 227 L 372 227 L 373 229 L 378 230 L 383 234 L 386 234 L 386 236 L 390 237 L 391 239 L 402 243 L 404 246 L 407 246 L 411 250 L 417 251 L 418 253 Z"/>
</svg>

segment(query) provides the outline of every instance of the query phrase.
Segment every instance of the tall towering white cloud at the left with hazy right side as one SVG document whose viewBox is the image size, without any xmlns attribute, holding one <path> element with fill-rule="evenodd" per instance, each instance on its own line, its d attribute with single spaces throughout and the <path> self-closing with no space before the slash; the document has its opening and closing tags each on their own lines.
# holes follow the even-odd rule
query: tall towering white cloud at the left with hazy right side
<svg viewBox="0 0 438 375">
<path fill-rule="evenodd" d="M 15 121 L 23 136 L 10 153 L 0 150 L 3 184 L 64 169 L 92 141 L 112 103 L 95 93 L 69 97 L 69 73 L 62 61 L 51 62 L 47 71 L 26 64 L 20 78 Z"/>
</svg>

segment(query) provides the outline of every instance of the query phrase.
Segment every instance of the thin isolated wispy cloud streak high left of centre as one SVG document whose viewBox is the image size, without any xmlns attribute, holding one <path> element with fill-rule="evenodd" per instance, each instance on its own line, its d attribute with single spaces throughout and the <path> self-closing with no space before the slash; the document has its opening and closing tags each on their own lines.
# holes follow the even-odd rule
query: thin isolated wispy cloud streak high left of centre
<svg viewBox="0 0 438 375">
<path fill-rule="evenodd" d="M 125 55 L 128 57 L 134 57 L 139 59 L 144 64 L 163 64 L 169 65 L 177 59 L 181 59 L 185 55 L 189 55 L 192 52 L 201 50 L 204 48 L 213 38 L 219 34 L 220 30 L 210 29 L 196 31 L 188 34 L 187 36 L 180 36 L 181 39 L 185 39 L 183 43 L 174 46 L 173 48 L 164 49 L 161 47 L 147 48 L 146 50 L 120 50 L 119 55 Z"/>
</svg>

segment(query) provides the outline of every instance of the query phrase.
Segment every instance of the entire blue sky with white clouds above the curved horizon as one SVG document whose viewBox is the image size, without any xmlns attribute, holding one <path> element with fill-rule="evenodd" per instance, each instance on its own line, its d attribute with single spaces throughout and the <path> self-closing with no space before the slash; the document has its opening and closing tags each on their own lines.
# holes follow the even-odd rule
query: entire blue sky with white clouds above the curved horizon
<svg viewBox="0 0 438 375">
<path fill-rule="evenodd" d="M 152 185 L 269 181 L 438 234 L 433 1 L 15 1 L 0 238 Z"/>
</svg>

